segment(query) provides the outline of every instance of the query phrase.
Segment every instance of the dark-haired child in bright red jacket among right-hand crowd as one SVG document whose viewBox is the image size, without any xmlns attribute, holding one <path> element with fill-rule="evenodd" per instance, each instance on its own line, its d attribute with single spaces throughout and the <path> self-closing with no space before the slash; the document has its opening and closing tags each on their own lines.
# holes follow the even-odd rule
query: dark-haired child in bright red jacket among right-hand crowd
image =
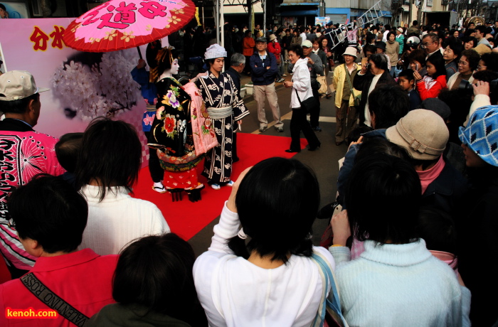
<svg viewBox="0 0 498 327">
<path fill-rule="evenodd" d="M 413 73 L 421 100 L 438 97 L 441 90 L 447 86 L 445 60 L 442 55 L 439 53 L 430 55 L 425 61 L 425 69 L 427 70 L 425 76 L 421 76 L 418 72 Z"/>
</svg>

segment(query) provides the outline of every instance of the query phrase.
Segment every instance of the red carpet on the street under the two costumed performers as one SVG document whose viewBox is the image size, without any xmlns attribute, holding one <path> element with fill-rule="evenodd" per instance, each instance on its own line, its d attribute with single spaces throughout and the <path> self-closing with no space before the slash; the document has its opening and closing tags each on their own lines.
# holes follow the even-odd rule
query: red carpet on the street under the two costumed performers
<svg viewBox="0 0 498 327">
<path fill-rule="evenodd" d="M 287 154 L 290 137 L 265 136 L 262 134 L 240 133 L 237 138 L 237 151 L 240 161 L 233 165 L 232 179 L 235 181 L 245 168 L 258 164 L 258 162 L 273 156 L 291 158 L 294 154 Z M 307 145 L 305 139 L 301 139 L 301 147 Z M 171 232 L 180 235 L 184 240 L 189 240 L 203 227 L 206 227 L 221 213 L 223 203 L 228 199 L 231 188 L 224 186 L 221 190 L 213 190 L 206 183 L 206 178 L 200 176 L 203 165 L 198 165 L 199 181 L 206 185 L 201 191 L 202 200 L 191 203 L 186 193 L 184 200 L 172 202 L 169 193 L 157 193 L 152 190 L 152 179 L 149 168 L 145 167 L 139 173 L 137 186 L 134 187 L 134 197 L 151 201 L 168 222 Z"/>
</svg>

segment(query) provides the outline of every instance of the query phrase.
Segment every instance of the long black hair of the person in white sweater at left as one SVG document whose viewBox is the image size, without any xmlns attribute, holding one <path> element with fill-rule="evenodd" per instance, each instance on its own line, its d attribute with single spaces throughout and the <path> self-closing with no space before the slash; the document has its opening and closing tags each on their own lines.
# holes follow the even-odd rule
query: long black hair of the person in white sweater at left
<svg viewBox="0 0 498 327">
<path fill-rule="evenodd" d="M 100 184 L 100 201 L 113 186 L 132 192 L 142 165 L 142 144 L 134 127 L 120 120 L 93 119 L 85 129 L 76 164 L 76 187 Z"/>
</svg>

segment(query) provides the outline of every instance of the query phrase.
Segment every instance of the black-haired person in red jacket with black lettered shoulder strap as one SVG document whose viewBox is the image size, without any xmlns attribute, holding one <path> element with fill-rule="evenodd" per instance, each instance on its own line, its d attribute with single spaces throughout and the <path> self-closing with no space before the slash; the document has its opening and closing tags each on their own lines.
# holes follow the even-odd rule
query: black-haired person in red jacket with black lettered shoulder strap
<svg viewBox="0 0 498 327">
<path fill-rule="evenodd" d="M 115 302 L 111 286 L 117 255 L 77 250 L 88 216 L 82 195 L 62 178 L 38 175 L 11 193 L 8 204 L 9 227 L 37 259 L 21 279 L 0 285 L 0 326 L 83 326 L 88 317 Z M 54 309 L 58 316 L 13 319 L 6 314 L 8 308 Z"/>
</svg>

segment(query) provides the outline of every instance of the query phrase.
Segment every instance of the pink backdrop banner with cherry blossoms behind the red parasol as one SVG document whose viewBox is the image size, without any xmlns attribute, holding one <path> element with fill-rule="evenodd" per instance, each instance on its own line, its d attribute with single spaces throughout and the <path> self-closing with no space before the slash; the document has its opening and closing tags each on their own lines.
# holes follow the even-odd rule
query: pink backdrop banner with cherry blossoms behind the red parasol
<svg viewBox="0 0 498 327">
<path fill-rule="evenodd" d="M 74 18 L 0 20 L 0 49 L 4 70 L 28 70 L 41 93 L 41 114 L 35 130 L 55 137 L 83 132 L 100 116 L 132 124 L 142 141 L 147 165 L 147 139 L 142 132 L 145 103 L 131 70 L 137 48 L 111 53 L 82 53 L 63 43 L 63 31 Z M 15 32 L 14 32 L 15 31 Z M 163 45 L 167 45 L 163 41 Z M 142 55 L 145 57 L 142 45 Z"/>
</svg>

